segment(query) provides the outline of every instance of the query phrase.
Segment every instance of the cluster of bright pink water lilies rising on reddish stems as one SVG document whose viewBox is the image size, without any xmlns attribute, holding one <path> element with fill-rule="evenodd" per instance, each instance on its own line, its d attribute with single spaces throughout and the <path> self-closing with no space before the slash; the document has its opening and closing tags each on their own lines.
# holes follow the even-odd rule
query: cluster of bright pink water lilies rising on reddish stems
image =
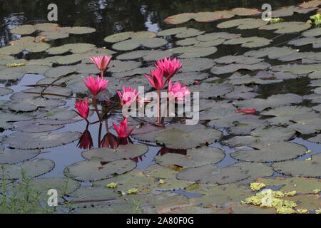
<svg viewBox="0 0 321 228">
<path fill-rule="evenodd" d="M 103 118 L 103 113 L 98 109 L 98 98 L 97 96 L 103 90 L 106 90 L 108 87 L 108 80 L 103 78 L 103 73 L 107 70 L 109 63 L 111 62 L 112 56 L 98 56 L 91 57 L 91 61 L 96 64 L 96 67 L 101 72 L 100 76 L 88 76 L 83 80 L 89 92 L 91 93 L 91 99 L 85 98 L 84 100 L 76 100 L 74 110 L 81 118 L 86 120 L 87 127 L 83 132 L 81 139 L 78 143 L 79 147 L 82 149 L 91 149 L 93 147 L 93 140 L 88 131 L 88 125 L 91 125 L 88 121 L 88 115 L 90 113 L 90 105 L 93 106 L 93 110 L 96 112 L 98 121 L 95 123 L 100 124 L 100 133 L 101 125 L 103 122 L 106 123 L 106 135 L 101 140 L 101 135 L 98 136 L 98 147 L 111 147 L 116 148 L 118 145 L 123 145 L 128 142 L 131 142 L 129 135 L 133 132 L 134 128 L 128 128 L 128 118 L 123 117 L 123 120 L 119 125 L 113 123 L 113 128 L 116 131 L 118 137 L 109 132 L 108 127 L 108 118 Z M 179 100 L 184 100 L 185 96 L 190 94 L 187 86 L 183 83 L 175 82 L 172 83 L 171 79 L 175 76 L 175 73 L 183 66 L 183 63 L 177 58 L 163 58 L 162 60 L 156 61 L 156 68 L 150 71 L 150 74 L 145 74 L 145 77 L 151 83 L 153 88 L 157 91 L 157 120 L 156 125 L 164 125 L 164 118 L 161 118 L 161 90 L 167 86 L 167 95 L 168 100 L 175 102 Z M 140 98 L 139 92 L 136 88 L 131 88 L 131 86 L 123 86 L 122 90 L 117 91 L 118 97 L 122 107 L 129 107 L 132 103 L 139 103 L 139 105 L 144 105 L 144 103 L 150 102 L 146 98 Z M 90 100 L 90 102 L 88 102 Z M 167 102 L 167 100 L 166 100 Z M 106 100 L 105 103 L 107 106 L 110 106 L 113 103 L 111 100 Z"/>
</svg>

